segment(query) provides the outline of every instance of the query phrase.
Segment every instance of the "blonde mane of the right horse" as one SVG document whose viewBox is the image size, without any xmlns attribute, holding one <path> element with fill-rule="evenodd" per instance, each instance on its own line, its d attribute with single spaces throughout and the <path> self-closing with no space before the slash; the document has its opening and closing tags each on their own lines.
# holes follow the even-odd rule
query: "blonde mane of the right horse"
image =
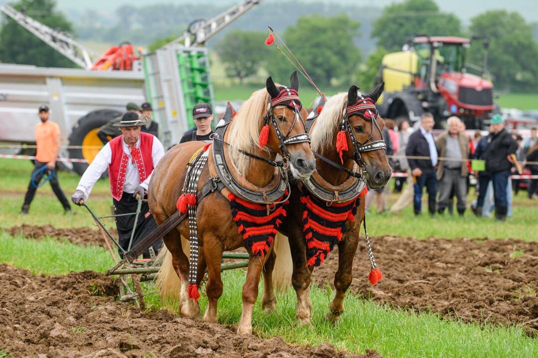
<svg viewBox="0 0 538 358">
<path fill-rule="evenodd" d="M 315 121 L 315 126 L 310 131 L 310 147 L 312 150 L 320 152 L 324 148 L 332 145 L 336 136 L 338 123 L 342 119 L 344 104 L 348 101 L 348 93 L 340 92 L 335 94 L 325 106 Z"/>
</svg>

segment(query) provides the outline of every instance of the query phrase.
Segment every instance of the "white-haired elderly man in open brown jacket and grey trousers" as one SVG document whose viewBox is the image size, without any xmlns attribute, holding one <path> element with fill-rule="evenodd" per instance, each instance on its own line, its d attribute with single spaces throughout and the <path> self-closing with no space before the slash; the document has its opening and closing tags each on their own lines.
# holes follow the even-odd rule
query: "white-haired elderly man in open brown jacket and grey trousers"
<svg viewBox="0 0 538 358">
<path fill-rule="evenodd" d="M 465 196 L 467 193 L 466 165 L 469 159 L 469 140 L 462 133 L 461 120 L 452 116 L 447 120 L 448 130 L 437 138 L 437 151 L 440 159 L 437 167 L 437 180 L 439 180 L 439 200 L 437 211 L 443 214 L 448 207 L 452 193 L 456 194 L 457 210 L 459 215 L 465 213 Z"/>
</svg>

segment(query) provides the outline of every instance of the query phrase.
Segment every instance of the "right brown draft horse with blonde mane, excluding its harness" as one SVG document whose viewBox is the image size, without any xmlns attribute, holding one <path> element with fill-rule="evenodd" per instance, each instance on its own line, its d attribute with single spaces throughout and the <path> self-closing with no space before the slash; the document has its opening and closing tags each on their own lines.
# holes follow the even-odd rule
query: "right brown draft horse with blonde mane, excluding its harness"
<svg viewBox="0 0 538 358">
<path fill-rule="evenodd" d="M 376 103 L 377 99 L 383 92 L 384 84 L 379 85 L 372 92 L 365 94 L 365 97 L 372 99 Z M 321 154 L 325 158 L 330 159 L 334 163 L 341 163 L 338 151 L 336 150 L 337 133 L 339 131 L 339 123 L 342 122 L 343 113 L 346 107 L 357 103 L 358 87 L 351 86 L 348 93 L 339 93 L 331 97 L 318 118 L 313 123 L 309 131 L 312 143 L 312 150 Z M 366 120 L 358 114 L 349 116 L 349 123 L 355 133 L 358 144 L 368 144 L 381 141 L 381 130 L 385 125 L 383 119 L 377 115 L 377 129 L 374 127 L 376 123 L 372 120 Z M 364 164 L 357 163 L 356 157 L 353 155 L 353 146 L 351 143 L 350 134 L 346 134 L 348 148 L 350 150 L 343 152 L 343 166 L 349 170 L 357 165 L 364 165 L 365 178 L 370 188 L 379 188 L 384 186 L 391 178 L 391 167 L 388 164 L 384 149 L 361 152 Z M 324 182 L 324 187 L 327 189 L 338 190 L 345 186 L 345 182 L 350 180 L 348 173 L 335 169 L 334 166 L 316 159 L 316 171 L 312 176 L 318 179 L 318 182 Z M 291 247 L 291 258 L 293 261 L 292 284 L 297 295 L 297 306 L 295 312 L 295 322 L 299 320 L 300 325 L 308 324 L 310 321 L 310 310 L 312 303 L 309 298 L 310 275 L 314 266 L 307 266 L 307 244 L 303 233 L 303 209 L 300 202 L 301 186 L 292 186 L 292 196 L 290 198 L 287 220 L 287 233 L 289 245 Z M 358 193 L 357 193 L 358 195 Z M 334 286 L 336 288 L 335 297 L 329 305 L 330 314 L 327 316 L 333 322 L 344 311 L 344 295 L 349 288 L 352 280 L 352 264 L 353 257 L 357 250 L 359 240 L 360 224 L 364 218 L 365 200 L 360 200 L 358 204 L 356 220 L 346 222 L 347 232 L 344 233 L 342 239 L 338 242 L 338 271 L 335 273 Z M 285 229 L 285 228 L 283 228 Z M 285 267 L 286 264 L 279 262 L 285 259 L 285 256 L 277 255 L 277 263 L 275 271 L 268 268 L 268 272 L 272 272 L 275 276 L 280 276 L 278 272 L 280 267 Z M 272 261 L 268 261 L 267 265 L 271 265 Z M 267 266 L 266 265 L 266 266 Z"/>
</svg>

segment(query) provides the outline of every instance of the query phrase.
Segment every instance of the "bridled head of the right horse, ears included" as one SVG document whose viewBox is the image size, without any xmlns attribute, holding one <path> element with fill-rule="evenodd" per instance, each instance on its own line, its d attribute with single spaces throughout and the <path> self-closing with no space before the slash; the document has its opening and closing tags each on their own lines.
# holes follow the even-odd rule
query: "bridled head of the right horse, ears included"
<svg viewBox="0 0 538 358">
<path fill-rule="evenodd" d="M 392 174 L 383 140 L 385 121 L 376 108 L 376 102 L 384 87 L 383 82 L 366 94 L 358 93 L 356 85 L 349 87 L 342 121 L 344 126 L 349 126 L 342 129 L 348 133 L 346 140 L 350 149 L 345 151 L 343 156 L 356 160 L 357 164 L 364 167 L 370 188 L 386 185 Z"/>
</svg>

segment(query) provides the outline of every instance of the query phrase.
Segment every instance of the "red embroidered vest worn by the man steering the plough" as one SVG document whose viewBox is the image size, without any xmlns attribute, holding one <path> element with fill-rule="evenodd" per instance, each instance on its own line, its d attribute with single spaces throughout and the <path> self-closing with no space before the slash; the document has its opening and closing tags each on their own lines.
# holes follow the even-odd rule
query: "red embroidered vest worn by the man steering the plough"
<svg viewBox="0 0 538 358">
<path fill-rule="evenodd" d="M 151 150 L 153 148 L 153 135 L 148 133 L 140 133 L 140 146 L 134 148 L 131 152 L 134 163 L 138 168 L 138 177 L 140 182 L 153 171 L 153 159 Z M 117 136 L 110 141 L 110 149 L 112 150 L 112 160 L 108 166 L 108 178 L 110 180 L 110 191 L 112 198 L 116 200 L 122 199 L 123 185 L 125 184 L 125 174 L 129 165 L 129 156 L 123 151 L 123 135 Z"/>
</svg>

